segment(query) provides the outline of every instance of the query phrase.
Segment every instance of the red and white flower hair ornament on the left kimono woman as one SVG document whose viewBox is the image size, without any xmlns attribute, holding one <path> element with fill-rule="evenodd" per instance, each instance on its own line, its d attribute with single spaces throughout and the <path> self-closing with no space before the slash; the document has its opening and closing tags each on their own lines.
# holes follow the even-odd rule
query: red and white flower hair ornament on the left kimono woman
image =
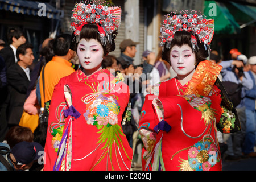
<svg viewBox="0 0 256 182">
<path fill-rule="evenodd" d="M 71 17 L 69 28 L 74 32 L 76 43 L 79 42 L 82 27 L 88 23 L 96 23 L 100 34 L 101 44 L 106 41 L 112 44 L 113 32 L 118 32 L 121 23 L 121 7 L 108 7 L 104 5 L 76 3 Z M 74 39 L 75 39 L 74 38 Z"/>
</svg>

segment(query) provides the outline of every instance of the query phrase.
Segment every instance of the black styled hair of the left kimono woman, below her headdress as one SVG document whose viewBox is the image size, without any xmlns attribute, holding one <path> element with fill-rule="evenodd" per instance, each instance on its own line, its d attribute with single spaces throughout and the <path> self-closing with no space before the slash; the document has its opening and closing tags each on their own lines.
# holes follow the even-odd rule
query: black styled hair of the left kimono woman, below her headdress
<svg viewBox="0 0 256 182">
<path fill-rule="evenodd" d="M 115 37 L 117 35 L 117 32 L 114 31 L 112 35 L 109 35 L 112 37 L 112 44 L 106 40 L 106 46 L 101 44 L 101 39 L 100 39 L 100 32 L 98 32 L 98 26 L 95 23 L 88 23 L 85 24 L 82 27 L 82 30 L 80 32 L 80 37 L 79 39 L 85 39 L 85 40 L 90 40 L 90 39 L 96 39 L 101 45 L 104 50 L 104 57 L 108 55 L 109 52 L 113 52 L 115 50 Z M 107 39 L 107 38 L 106 38 Z M 77 43 L 76 43 L 76 37 L 74 34 L 72 34 L 72 43 L 71 43 L 71 48 L 73 51 L 77 51 Z"/>
</svg>

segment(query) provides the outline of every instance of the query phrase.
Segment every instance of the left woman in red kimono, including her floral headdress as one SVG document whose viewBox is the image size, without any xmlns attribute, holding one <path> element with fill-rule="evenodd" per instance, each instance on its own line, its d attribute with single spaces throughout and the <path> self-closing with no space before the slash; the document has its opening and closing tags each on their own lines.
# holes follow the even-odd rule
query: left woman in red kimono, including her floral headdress
<svg viewBox="0 0 256 182">
<path fill-rule="evenodd" d="M 101 68 L 120 18 L 119 7 L 76 4 L 72 49 L 81 69 L 55 86 L 44 170 L 130 170 L 133 151 L 121 126 L 129 122 L 129 88 L 121 73 Z"/>
</svg>

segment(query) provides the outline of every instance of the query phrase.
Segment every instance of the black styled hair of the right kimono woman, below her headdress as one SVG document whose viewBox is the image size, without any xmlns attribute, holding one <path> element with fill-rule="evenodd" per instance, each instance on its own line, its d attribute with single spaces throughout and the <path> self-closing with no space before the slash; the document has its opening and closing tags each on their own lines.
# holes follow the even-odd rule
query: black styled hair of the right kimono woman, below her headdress
<svg viewBox="0 0 256 182">
<path fill-rule="evenodd" d="M 199 64 L 199 62 L 204 61 L 208 56 L 208 47 L 206 46 L 206 50 L 205 50 L 205 46 L 203 42 L 200 42 L 199 38 L 197 35 L 195 35 L 196 40 L 197 40 L 197 47 L 195 47 L 195 56 L 196 56 L 196 65 Z M 174 39 L 171 42 L 171 46 L 170 49 L 166 48 L 166 43 L 163 46 L 163 52 L 162 52 L 162 59 L 167 61 L 170 65 L 171 65 L 171 60 L 170 60 L 170 53 L 171 53 L 171 49 L 174 46 L 179 46 L 181 47 L 183 44 L 187 44 L 189 47 L 192 48 L 192 44 L 191 44 L 191 33 L 188 31 L 177 31 L 174 34 Z"/>
</svg>

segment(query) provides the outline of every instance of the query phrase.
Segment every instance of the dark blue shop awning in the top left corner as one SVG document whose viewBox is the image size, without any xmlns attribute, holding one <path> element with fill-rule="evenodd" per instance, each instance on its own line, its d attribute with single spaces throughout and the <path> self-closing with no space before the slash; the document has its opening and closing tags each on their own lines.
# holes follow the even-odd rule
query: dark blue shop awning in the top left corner
<svg viewBox="0 0 256 182">
<path fill-rule="evenodd" d="M 47 18 L 53 19 L 58 19 L 63 13 L 63 11 L 57 10 L 49 3 L 26 0 L 0 0 L 0 10 L 40 17 L 46 16 Z"/>
</svg>

